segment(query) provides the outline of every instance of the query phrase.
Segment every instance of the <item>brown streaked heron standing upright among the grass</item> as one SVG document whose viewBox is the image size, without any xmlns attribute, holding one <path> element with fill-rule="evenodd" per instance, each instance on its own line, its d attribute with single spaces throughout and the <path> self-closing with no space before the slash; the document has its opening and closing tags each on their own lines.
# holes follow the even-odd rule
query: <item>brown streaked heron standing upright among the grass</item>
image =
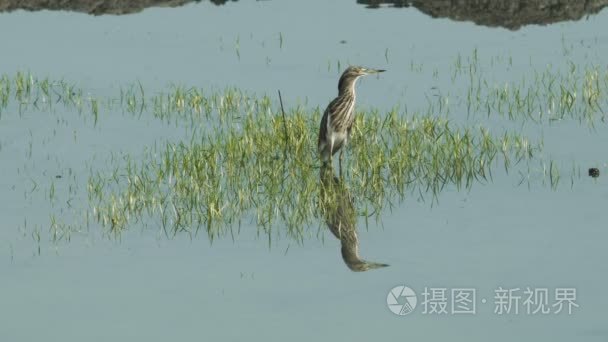
<svg viewBox="0 0 608 342">
<path fill-rule="evenodd" d="M 338 82 L 338 97 L 329 103 L 319 128 L 319 154 L 323 164 L 331 163 L 332 156 L 346 145 L 355 120 L 355 84 L 361 76 L 377 74 L 384 70 L 351 66 L 344 70 Z M 340 170 L 342 170 L 340 151 Z"/>
</svg>

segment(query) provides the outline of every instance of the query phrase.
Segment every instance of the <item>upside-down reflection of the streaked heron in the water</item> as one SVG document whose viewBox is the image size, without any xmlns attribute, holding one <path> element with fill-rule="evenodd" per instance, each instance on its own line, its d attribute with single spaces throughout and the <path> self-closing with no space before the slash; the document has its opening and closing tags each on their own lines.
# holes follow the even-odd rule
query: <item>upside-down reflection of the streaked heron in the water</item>
<svg viewBox="0 0 608 342">
<path fill-rule="evenodd" d="M 342 181 L 327 167 L 321 167 L 321 210 L 329 230 L 340 240 L 342 259 L 348 268 L 362 272 L 388 266 L 359 258 L 353 199 Z"/>
</svg>

